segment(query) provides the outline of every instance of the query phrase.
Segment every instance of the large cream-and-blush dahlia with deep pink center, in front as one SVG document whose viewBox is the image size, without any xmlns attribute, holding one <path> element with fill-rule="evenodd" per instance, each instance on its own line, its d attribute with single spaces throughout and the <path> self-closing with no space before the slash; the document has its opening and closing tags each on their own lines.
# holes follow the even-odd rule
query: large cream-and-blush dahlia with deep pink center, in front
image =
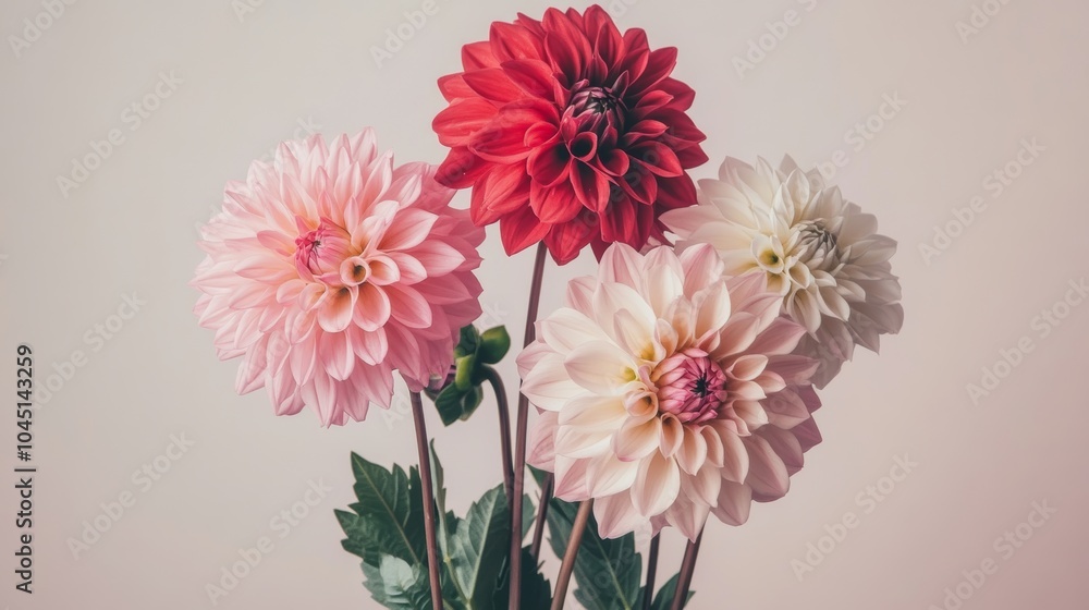
<svg viewBox="0 0 1089 610">
<path fill-rule="evenodd" d="M 556 497 L 595 499 L 604 537 L 649 522 L 695 539 L 712 512 L 739 525 L 820 440 L 817 363 L 791 354 L 805 329 L 763 276 L 723 267 L 710 246 L 610 246 L 518 356 L 541 410 L 529 462 L 555 473 Z"/>
</svg>

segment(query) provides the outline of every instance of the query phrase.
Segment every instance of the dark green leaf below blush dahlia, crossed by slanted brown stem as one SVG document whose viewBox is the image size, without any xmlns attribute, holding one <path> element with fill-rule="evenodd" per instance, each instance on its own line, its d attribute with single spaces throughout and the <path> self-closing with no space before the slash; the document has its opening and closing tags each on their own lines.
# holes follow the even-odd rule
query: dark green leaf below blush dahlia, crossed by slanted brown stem
<svg viewBox="0 0 1089 610">
<path fill-rule="evenodd" d="M 549 544 L 556 557 L 567 550 L 577 507 L 553 499 L 548 512 Z M 575 559 L 577 599 L 587 610 L 632 610 L 637 608 L 643 563 L 635 552 L 635 535 L 602 539 L 590 515 L 583 544 Z"/>
</svg>

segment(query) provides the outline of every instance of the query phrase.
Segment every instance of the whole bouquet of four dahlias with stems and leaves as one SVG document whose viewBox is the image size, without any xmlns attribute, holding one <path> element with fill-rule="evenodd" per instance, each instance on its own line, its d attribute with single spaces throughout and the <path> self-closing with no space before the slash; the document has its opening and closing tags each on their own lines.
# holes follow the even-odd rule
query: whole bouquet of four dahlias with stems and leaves
<svg viewBox="0 0 1089 610">
<path fill-rule="evenodd" d="M 237 391 L 340 426 L 389 408 L 394 375 L 409 390 L 418 465 L 353 454 L 358 502 L 337 511 L 378 603 L 562 608 L 574 575 L 589 609 L 684 607 L 708 517 L 782 498 L 821 440 L 817 390 L 900 330 L 895 242 L 819 173 L 726 159 L 697 186 L 706 136 L 676 59 L 599 7 L 518 15 L 439 80 L 441 164 L 396 164 L 367 129 L 284 143 L 227 186 L 193 285 L 219 356 L 242 358 Z M 493 222 L 507 254 L 537 248 L 513 431 L 493 368 L 511 339 L 473 326 Z M 559 271 L 586 246 L 597 273 L 538 316 L 549 255 Z M 488 393 L 503 481 L 458 515 L 423 396 L 451 426 Z M 659 580 L 670 527 L 688 548 Z"/>
</svg>

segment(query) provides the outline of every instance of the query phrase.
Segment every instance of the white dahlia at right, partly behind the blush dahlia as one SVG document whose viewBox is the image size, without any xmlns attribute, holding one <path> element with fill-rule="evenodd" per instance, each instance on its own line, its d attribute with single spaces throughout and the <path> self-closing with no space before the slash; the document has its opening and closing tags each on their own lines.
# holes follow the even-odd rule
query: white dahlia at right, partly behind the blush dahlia
<svg viewBox="0 0 1089 610">
<path fill-rule="evenodd" d="M 904 324 L 889 259 L 896 242 L 878 221 L 828 187 L 816 170 L 786 157 L 775 170 L 727 158 L 718 180 L 699 182 L 699 205 L 662 217 L 688 243 L 719 251 L 729 274 L 759 271 L 783 297 L 783 312 L 808 331 L 799 353 L 820 361 L 823 388 L 856 344 L 877 352 L 881 334 Z"/>
</svg>

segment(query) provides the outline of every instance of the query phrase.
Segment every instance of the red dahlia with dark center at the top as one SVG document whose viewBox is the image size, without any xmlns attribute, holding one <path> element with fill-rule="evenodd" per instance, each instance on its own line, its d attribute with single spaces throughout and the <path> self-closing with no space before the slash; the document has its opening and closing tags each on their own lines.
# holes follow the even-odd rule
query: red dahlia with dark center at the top
<svg viewBox="0 0 1089 610">
<path fill-rule="evenodd" d="M 493 23 L 462 49 L 464 72 L 439 80 L 439 182 L 473 187 L 473 221 L 498 220 L 507 254 L 543 240 L 565 264 L 587 244 L 600 256 L 663 239 L 658 217 L 695 203 L 685 170 L 707 161 L 676 57 L 597 5 Z"/>
</svg>

